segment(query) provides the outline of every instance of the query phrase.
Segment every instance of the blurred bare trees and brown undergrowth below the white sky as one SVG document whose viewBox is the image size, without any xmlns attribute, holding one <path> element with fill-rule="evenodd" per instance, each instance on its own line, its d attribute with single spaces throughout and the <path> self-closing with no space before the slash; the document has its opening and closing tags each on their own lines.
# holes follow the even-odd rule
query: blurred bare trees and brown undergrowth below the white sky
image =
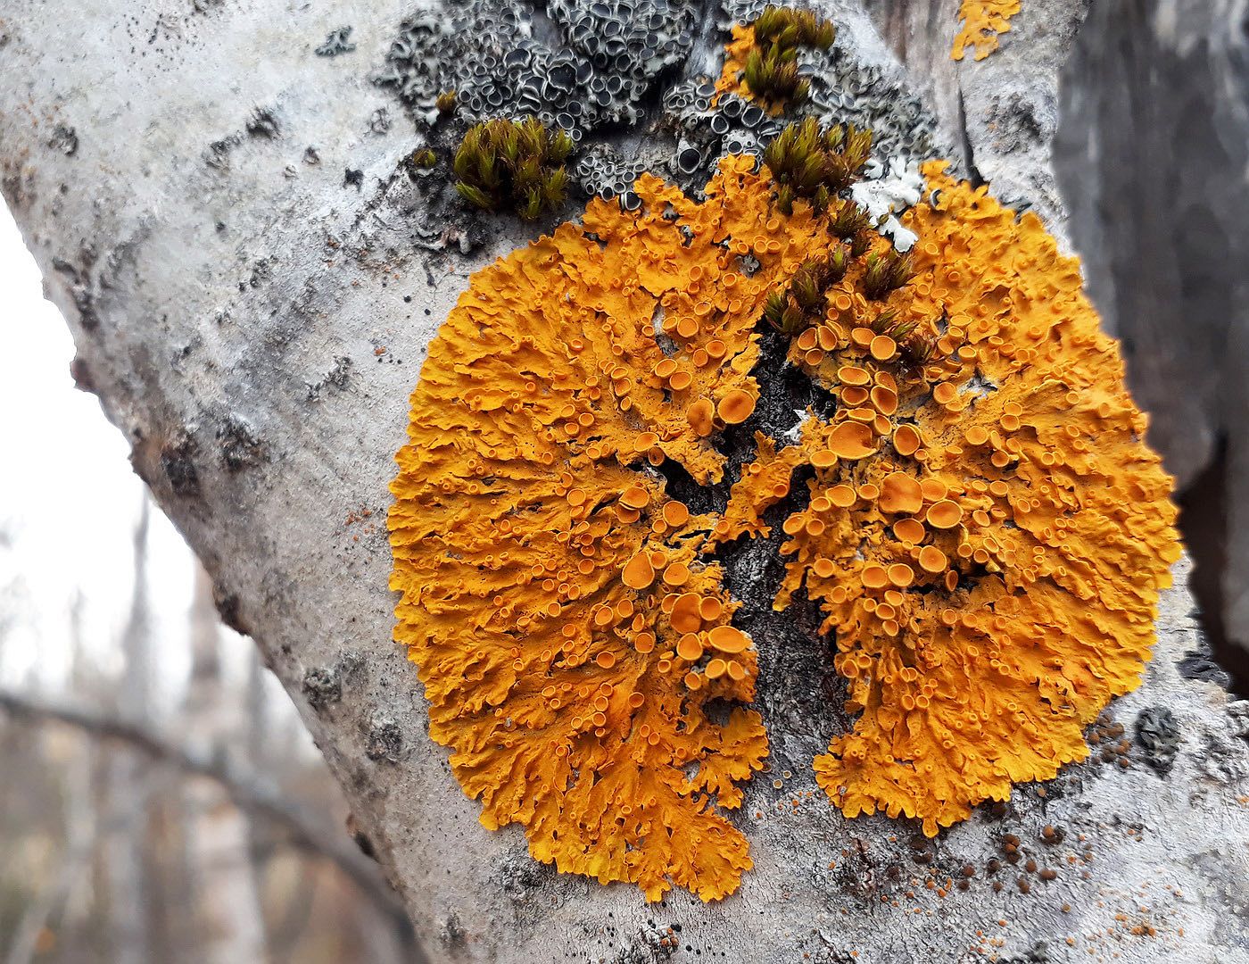
<svg viewBox="0 0 1249 964">
<path fill-rule="evenodd" d="M 149 539 L 145 501 L 120 638 L 86 638 L 79 596 L 62 691 L 0 683 L 0 961 L 415 959 L 337 785 L 199 569 L 190 673 L 155 699 Z M 0 658 L 27 611 L 19 579 L 0 585 Z"/>
</svg>

